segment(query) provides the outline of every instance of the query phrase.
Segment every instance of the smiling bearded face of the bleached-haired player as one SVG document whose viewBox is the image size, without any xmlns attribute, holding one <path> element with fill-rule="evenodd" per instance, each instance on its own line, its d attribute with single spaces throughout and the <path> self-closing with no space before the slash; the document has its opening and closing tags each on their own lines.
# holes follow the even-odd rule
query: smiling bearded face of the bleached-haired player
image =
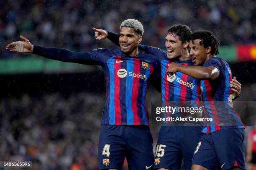
<svg viewBox="0 0 256 170">
<path fill-rule="evenodd" d="M 136 56 L 138 44 L 142 36 L 134 32 L 133 28 L 122 27 L 119 33 L 119 45 L 124 55 Z"/>
</svg>

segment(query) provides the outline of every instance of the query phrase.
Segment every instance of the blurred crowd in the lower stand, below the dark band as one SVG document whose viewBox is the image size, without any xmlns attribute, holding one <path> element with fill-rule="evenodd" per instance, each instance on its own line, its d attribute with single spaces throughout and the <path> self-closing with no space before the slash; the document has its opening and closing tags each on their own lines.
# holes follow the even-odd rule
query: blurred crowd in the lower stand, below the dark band
<svg viewBox="0 0 256 170">
<path fill-rule="evenodd" d="M 256 100 L 253 86 L 256 84 L 244 86 L 238 100 Z M 158 100 L 155 92 L 148 91 L 149 110 L 151 101 Z M 3 97 L 0 160 L 32 161 L 33 170 L 98 170 L 97 145 L 104 102 L 103 93 L 99 96 L 88 92 Z M 252 128 L 246 127 L 245 144 Z M 154 146 L 158 131 L 159 126 L 151 122 Z"/>
</svg>

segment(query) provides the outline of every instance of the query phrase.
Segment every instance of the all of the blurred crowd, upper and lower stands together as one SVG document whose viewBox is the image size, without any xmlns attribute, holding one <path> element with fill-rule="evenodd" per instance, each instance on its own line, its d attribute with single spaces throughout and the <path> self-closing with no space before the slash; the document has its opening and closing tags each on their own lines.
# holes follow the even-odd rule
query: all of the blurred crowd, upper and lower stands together
<svg viewBox="0 0 256 170">
<path fill-rule="evenodd" d="M 0 58 L 21 56 L 5 50 L 19 35 L 32 44 L 77 51 L 115 48 L 109 41 L 97 43 L 92 27 L 118 32 L 128 18 L 143 23 L 143 44 L 163 49 L 167 29 L 180 23 L 192 30 L 212 30 L 221 45 L 252 43 L 256 42 L 255 9 L 252 0 L 0 0 Z M 98 170 L 104 92 L 2 96 L 0 160 L 33 161 L 33 170 Z M 155 96 L 149 90 L 148 106 L 152 98 L 160 99 Z M 256 84 L 243 84 L 238 100 L 256 100 Z M 251 128 L 246 128 L 247 133 Z M 154 142 L 158 129 L 151 127 Z"/>
</svg>

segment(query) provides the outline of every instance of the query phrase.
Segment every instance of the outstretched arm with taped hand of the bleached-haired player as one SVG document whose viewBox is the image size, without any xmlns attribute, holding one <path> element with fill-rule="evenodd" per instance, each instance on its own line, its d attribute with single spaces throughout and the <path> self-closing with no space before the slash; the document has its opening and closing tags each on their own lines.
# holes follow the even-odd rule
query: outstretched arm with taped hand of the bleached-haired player
<svg viewBox="0 0 256 170">
<path fill-rule="evenodd" d="M 74 52 L 63 48 L 41 47 L 38 45 L 32 45 L 28 39 L 20 35 L 23 41 L 11 42 L 6 46 L 7 50 L 13 52 L 31 52 L 36 55 L 41 55 L 53 60 L 59 60 L 63 62 L 76 62 L 87 65 L 97 65 L 97 52 Z"/>
</svg>

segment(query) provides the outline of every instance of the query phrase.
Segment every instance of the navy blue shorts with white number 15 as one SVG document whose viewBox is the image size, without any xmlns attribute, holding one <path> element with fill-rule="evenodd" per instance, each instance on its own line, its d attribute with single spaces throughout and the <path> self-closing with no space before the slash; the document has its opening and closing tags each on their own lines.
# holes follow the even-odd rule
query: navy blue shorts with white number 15
<svg viewBox="0 0 256 170">
<path fill-rule="evenodd" d="M 201 126 L 161 126 L 154 168 L 180 170 L 183 158 L 186 170 L 190 170 L 195 148 L 203 135 L 201 131 Z"/>
</svg>

